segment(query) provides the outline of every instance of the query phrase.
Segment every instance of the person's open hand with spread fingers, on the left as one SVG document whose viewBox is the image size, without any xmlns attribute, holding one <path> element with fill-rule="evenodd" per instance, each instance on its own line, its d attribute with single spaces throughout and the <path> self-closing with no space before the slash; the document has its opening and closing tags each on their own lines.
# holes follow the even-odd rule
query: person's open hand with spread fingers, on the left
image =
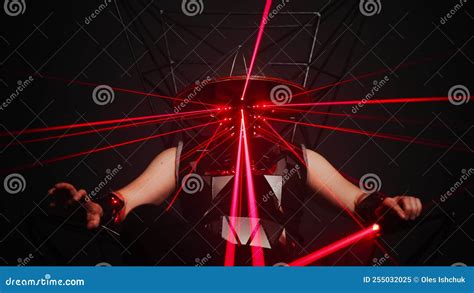
<svg viewBox="0 0 474 293">
<path fill-rule="evenodd" d="M 84 189 L 76 190 L 76 188 L 69 183 L 57 183 L 48 191 L 48 194 L 54 199 L 51 203 L 52 207 L 63 205 L 64 207 L 71 206 L 73 203 L 79 203 L 87 196 Z M 99 227 L 100 218 L 103 214 L 102 207 L 97 203 L 87 200 L 80 203 L 87 211 L 87 229 L 95 229 Z"/>
</svg>

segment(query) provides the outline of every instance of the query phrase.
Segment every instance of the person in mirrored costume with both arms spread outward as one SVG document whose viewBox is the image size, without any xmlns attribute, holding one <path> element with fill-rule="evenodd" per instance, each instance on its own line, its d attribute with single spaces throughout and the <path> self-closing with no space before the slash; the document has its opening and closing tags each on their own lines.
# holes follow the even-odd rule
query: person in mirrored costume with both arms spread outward
<svg viewBox="0 0 474 293">
<path fill-rule="evenodd" d="M 223 122 L 207 140 L 181 140 L 158 154 L 138 178 L 109 194 L 90 198 L 69 183 L 54 185 L 49 194 L 66 193 L 81 202 L 88 229 L 119 230 L 131 252 L 124 254 L 126 263 L 141 265 L 195 265 L 211 251 L 218 253 L 207 264 L 223 265 L 229 262 L 229 245 L 235 246 L 235 265 L 251 265 L 255 247 L 263 251 L 266 264 L 290 262 L 301 256 L 298 226 L 309 194 L 342 206 L 366 225 L 389 214 L 406 221 L 420 216 L 418 198 L 368 194 L 304 144 L 291 147 L 277 139 L 276 131 L 271 135 L 273 128 L 262 118 L 267 113 L 257 110 L 259 97 L 268 97 L 281 83 L 296 94 L 303 88 L 253 78 L 242 102 L 244 79 L 212 81 L 196 97 L 225 105 L 223 116 L 214 117 Z"/>
</svg>

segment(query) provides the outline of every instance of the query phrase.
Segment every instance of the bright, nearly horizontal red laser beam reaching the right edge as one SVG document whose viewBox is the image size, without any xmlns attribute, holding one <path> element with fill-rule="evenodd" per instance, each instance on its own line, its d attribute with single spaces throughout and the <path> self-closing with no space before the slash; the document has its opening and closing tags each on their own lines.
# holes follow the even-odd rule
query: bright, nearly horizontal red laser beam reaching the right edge
<svg viewBox="0 0 474 293">
<path fill-rule="evenodd" d="M 469 100 L 471 97 L 468 97 Z M 315 102 L 315 103 L 298 103 L 298 104 L 266 104 L 264 108 L 273 107 L 317 107 L 317 106 L 337 106 L 337 105 L 372 105 L 372 104 L 399 104 L 399 103 L 427 103 L 427 102 L 446 102 L 449 97 L 419 97 L 419 98 L 394 98 L 394 99 L 374 99 L 374 100 L 350 100 L 350 101 L 333 101 L 333 102 Z"/>
</svg>

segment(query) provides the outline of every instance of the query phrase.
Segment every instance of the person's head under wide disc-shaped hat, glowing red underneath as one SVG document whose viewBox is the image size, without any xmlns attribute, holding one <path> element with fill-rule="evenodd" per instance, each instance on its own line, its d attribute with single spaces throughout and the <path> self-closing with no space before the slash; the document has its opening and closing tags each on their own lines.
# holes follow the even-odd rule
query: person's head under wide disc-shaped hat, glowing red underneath
<svg viewBox="0 0 474 293">
<path fill-rule="evenodd" d="M 253 76 L 244 94 L 245 83 L 246 76 L 207 77 L 196 81 L 177 95 L 179 100 L 174 104 L 174 112 L 193 115 L 188 119 L 193 124 L 219 121 L 234 133 L 239 130 L 243 116 L 249 136 L 253 137 L 266 124 L 266 116 L 294 119 L 298 110 L 287 109 L 284 105 L 294 100 L 298 103 L 308 101 L 305 89 L 287 80 Z M 205 130 L 202 135 L 210 136 L 212 130 Z"/>
</svg>

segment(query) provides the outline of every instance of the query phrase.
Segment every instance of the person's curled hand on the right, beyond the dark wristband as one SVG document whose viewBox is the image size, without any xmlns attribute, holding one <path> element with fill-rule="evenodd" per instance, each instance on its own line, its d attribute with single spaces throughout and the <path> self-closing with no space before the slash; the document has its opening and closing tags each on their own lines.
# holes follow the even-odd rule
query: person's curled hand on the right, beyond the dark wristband
<svg viewBox="0 0 474 293">
<path fill-rule="evenodd" d="M 376 214 L 380 217 L 387 212 L 393 212 L 403 220 L 415 220 L 420 216 L 422 208 L 419 198 L 401 195 L 385 198 Z"/>
</svg>

